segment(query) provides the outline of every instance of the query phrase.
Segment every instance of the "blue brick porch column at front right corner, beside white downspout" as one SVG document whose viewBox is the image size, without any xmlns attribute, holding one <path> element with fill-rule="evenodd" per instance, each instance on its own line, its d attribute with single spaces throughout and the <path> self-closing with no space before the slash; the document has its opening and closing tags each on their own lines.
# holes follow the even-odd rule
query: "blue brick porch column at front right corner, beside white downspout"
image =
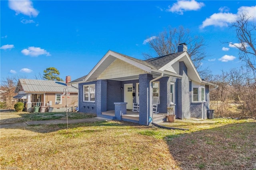
<svg viewBox="0 0 256 170">
<path fill-rule="evenodd" d="M 140 74 L 140 117 L 139 124 L 148 126 L 149 118 L 149 82 L 153 79 L 151 74 Z"/>
</svg>

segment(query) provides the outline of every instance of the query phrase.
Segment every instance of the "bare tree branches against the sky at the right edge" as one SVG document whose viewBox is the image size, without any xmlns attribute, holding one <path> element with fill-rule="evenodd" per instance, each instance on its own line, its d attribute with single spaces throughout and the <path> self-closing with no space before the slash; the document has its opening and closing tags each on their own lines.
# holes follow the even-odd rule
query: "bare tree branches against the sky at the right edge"
<svg viewBox="0 0 256 170">
<path fill-rule="evenodd" d="M 236 30 L 238 43 L 229 43 L 240 50 L 239 59 L 245 61 L 252 69 L 254 76 L 256 73 L 256 26 L 255 19 L 246 13 L 240 14 L 231 26 Z"/>
</svg>

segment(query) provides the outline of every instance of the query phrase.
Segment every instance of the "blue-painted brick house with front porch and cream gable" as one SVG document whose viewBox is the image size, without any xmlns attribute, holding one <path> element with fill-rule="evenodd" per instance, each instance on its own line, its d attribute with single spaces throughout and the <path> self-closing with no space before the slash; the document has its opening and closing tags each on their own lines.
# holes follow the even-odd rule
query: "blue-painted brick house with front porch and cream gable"
<svg viewBox="0 0 256 170">
<path fill-rule="evenodd" d="M 185 43 L 178 46 L 178 53 L 147 60 L 108 51 L 88 75 L 72 83 L 79 83 L 80 112 L 141 125 L 152 119 L 165 121 L 167 107 L 173 107 L 176 118 L 206 119 L 209 86 L 217 87 L 201 79 Z M 152 96 L 159 97 L 158 114 L 152 114 Z M 138 99 L 137 116 L 126 112 Z"/>
</svg>

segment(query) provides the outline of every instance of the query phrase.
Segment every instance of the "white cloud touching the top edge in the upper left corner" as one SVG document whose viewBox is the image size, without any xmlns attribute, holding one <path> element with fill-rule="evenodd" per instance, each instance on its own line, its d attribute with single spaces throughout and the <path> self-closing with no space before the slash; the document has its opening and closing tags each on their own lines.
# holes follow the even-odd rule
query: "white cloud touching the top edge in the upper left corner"
<svg viewBox="0 0 256 170">
<path fill-rule="evenodd" d="M 33 7 L 33 3 L 30 0 L 9 0 L 9 8 L 18 14 L 24 14 L 26 16 L 38 16 L 38 10 Z"/>
</svg>

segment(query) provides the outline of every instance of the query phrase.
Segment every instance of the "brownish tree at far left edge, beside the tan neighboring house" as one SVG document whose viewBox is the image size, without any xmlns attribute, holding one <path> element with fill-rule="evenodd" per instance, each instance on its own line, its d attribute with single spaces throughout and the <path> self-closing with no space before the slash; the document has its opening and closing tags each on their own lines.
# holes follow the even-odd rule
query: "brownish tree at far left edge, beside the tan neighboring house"
<svg viewBox="0 0 256 170">
<path fill-rule="evenodd" d="M 15 96 L 15 88 L 16 88 L 16 79 L 14 77 L 7 77 L 4 81 L 1 81 L 0 89 L 4 91 L 2 94 L 4 99 L 6 100 L 6 107 L 8 109 L 13 109 L 14 107 L 14 99 Z"/>
</svg>

